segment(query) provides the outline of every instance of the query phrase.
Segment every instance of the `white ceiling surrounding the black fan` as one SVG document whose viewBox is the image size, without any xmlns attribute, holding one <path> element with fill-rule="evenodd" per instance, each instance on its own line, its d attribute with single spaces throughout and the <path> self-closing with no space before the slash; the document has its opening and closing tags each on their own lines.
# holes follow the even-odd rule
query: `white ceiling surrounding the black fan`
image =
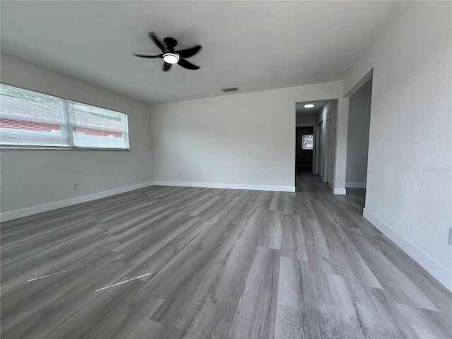
<svg viewBox="0 0 452 339">
<path fill-rule="evenodd" d="M 150 104 L 342 80 L 393 1 L 1 1 L 1 53 Z M 201 44 L 198 71 L 148 38 Z M 239 92 L 223 94 L 222 88 Z"/>
</svg>

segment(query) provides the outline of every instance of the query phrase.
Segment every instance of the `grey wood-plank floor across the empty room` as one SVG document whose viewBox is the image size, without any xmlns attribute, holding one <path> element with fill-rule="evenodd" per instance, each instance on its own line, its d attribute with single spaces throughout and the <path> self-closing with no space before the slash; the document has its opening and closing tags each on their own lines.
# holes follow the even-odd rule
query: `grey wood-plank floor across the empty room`
<svg viewBox="0 0 452 339">
<path fill-rule="evenodd" d="M 452 297 L 334 196 L 153 186 L 1 225 L 1 338 L 452 338 Z"/>
</svg>

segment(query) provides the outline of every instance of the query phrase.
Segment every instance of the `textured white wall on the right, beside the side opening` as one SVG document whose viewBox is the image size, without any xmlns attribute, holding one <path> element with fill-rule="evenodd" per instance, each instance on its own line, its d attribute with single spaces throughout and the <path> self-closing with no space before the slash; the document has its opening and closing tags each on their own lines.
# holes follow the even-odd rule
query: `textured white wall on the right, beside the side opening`
<svg viewBox="0 0 452 339">
<path fill-rule="evenodd" d="M 344 81 L 374 68 L 364 216 L 452 290 L 452 3 L 403 1 Z"/>
</svg>

